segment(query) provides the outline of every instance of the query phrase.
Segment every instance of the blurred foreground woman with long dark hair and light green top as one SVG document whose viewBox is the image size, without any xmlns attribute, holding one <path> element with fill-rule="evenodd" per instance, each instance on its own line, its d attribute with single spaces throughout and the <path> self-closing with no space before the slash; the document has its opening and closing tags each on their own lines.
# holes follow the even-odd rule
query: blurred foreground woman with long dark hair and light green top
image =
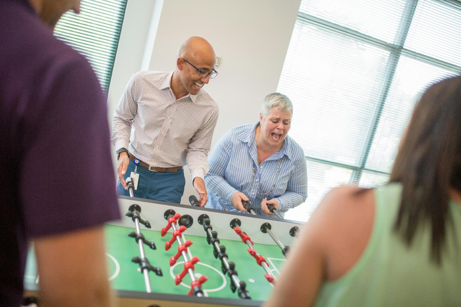
<svg viewBox="0 0 461 307">
<path fill-rule="evenodd" d="M 331 190 L 270 306 L 461 306 L 461 77 L 416 105 L 390 183 Z"/>
</svg>

